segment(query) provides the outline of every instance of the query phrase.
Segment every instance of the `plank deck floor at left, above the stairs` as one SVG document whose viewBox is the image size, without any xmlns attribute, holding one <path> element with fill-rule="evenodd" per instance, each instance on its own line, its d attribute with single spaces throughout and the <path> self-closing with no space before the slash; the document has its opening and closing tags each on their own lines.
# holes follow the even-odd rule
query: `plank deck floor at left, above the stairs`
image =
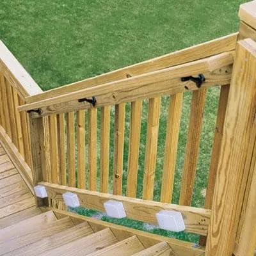
<svg viewBox="0 0 256 256">
<path fill-rule="evenodd" d="M 10 218 L 25 218 L 34 210 L 35 198 L 0 145 L 0 228 Z"/>
</svg>

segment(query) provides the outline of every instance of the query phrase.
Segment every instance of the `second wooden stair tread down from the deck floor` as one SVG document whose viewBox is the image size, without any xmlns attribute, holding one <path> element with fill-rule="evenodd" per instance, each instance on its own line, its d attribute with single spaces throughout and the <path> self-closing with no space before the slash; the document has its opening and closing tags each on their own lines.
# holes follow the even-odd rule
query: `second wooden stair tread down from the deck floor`
<svg viewBox="0 0 256 256">
<path fill-rule="evenodd" d="M 35 243 L 23 246 L 22 248 L 19 248 L 12 253 L 6 253 L 5 256 L 37 255 L 39 253 L 57 248 L 58 246 L 63 246 L 63 244 L 70 243 L 81 237 L 89 236 L 90 234 L 93 234 L 92 228 L 90 225 L 88 225 L 88 223 L 83 222 L 75 227 L 68 228 L 67 230 L 63 230 L 52 236 L 45 237 L 40 241 L 36 241 Z"/>
</svg>

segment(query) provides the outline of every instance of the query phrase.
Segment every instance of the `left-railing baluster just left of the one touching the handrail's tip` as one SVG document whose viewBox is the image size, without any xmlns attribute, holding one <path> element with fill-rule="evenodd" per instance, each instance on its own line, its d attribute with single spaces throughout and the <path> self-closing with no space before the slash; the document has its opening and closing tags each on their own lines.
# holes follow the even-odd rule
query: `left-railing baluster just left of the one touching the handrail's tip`
<svg viewBox="0 0 256 256">
<path fill-rule="evenodd" d="M 15 120 L 15 109 L 13 105 L 13 90 L 12 86 L 8 81 L 6 81 L 6 96 L 8 101 L 8 109 L 9 109 L 9 116 L 10 118 L 10 124 L 11 124 L 11 130 L 12 130 L 12 141 L 15 147 L 18 148 L 18 136 L 17 136 L 17 127 L 16 127 L 16 120 Z"/>
</svg>

